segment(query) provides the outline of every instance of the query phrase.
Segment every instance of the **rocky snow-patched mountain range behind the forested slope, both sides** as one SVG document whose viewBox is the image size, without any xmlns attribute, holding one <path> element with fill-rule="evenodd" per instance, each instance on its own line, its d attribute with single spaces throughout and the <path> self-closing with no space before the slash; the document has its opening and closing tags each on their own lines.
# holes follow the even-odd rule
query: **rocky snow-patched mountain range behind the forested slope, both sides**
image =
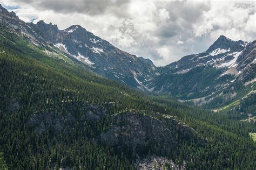
<svg viewBox="0 0 256 170">
<path fill-rule="evenodd" d="M 256 41 L 233 41 L 220 36 L 205 52 L 156 67 L 150 59 L 124 52 L 80 25 L 59 30 L 57 25 L 42 20 L 25 23 L 2 6 L 0 20 L 14 31 L 18 29 L 31 44 L 47 47 L 48 53 L 58 48 L 67 58 L 79 61 L 98 75 L 149 93 L 171 95 L 198 105 L 221 97 L 221 102 L 214 105 L 217 108 L 255 93 Z"/>
</svg>

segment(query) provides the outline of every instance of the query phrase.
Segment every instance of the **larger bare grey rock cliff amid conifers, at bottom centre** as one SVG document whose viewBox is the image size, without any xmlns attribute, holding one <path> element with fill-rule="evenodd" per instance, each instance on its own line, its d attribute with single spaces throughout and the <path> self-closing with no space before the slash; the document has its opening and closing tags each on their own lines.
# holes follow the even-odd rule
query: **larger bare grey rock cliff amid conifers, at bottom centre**
<svg viewBox="0 0 256 170">
<path fill-rule="evenodd" d="M 125 148 L 123 151 L 139 158 L 148 154 L 166 155 L 179 147 L 179 140 L 190 141 L 193 136 L 192 129 L 172 116 L 127 111 L 111 117 L 111 126 L 100 134 L 100 140 L 117 149 Z"/>
</svg>

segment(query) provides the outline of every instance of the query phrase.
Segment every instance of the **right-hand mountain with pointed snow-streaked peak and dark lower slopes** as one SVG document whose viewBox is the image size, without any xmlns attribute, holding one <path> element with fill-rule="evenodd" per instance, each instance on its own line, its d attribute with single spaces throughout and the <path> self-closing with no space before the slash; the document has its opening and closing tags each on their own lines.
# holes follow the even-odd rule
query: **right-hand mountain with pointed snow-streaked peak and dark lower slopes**
<svg viewBox="0 0 256 170">
<path fill-rule="evenodd" d="M 147 88 L 207 108 L 238 104 L 255 95 L 255 46 L 256 41 L 220 36 L 205 52 L 184 56 L 161 68 Z M 256 111 L 247 114 L 256 115 Z"/>
</svg>

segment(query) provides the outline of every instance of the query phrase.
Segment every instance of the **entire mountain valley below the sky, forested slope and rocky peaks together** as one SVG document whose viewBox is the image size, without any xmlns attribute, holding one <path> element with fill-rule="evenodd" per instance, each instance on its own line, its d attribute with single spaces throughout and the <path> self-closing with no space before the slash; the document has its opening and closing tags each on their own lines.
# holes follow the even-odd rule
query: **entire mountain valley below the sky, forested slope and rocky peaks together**
<svg viewBox="0 0 256 170">
<path fill-rule="evenodd" d="M 0 6 L 0 168 L 255 169 L 255 45 L 165 67 Z"/>
</svg>

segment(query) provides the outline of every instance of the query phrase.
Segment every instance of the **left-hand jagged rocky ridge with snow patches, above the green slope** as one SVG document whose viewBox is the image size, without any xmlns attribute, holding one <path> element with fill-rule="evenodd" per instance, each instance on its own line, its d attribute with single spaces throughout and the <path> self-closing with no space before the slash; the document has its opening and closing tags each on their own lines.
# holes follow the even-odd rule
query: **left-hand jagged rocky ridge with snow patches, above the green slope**
<svg viewBox="0 0 256 170">
<path fill-rule="evenodd" d="M 156 66 L 151 60 L 126 53 L 82 26 L 73 25 L 59 30 L 57 25 L 43 21 L 24 23 L 14 12 L 8 12 L 2 6 L 0 10 L 0 21 L 18 29 L 29 42 L 48 48 L 54 45 L 64 55 L 84 63 L 94 73 L 140 89 L 144 89 L 142 82 L 156 75 Z"/>
</svg>

